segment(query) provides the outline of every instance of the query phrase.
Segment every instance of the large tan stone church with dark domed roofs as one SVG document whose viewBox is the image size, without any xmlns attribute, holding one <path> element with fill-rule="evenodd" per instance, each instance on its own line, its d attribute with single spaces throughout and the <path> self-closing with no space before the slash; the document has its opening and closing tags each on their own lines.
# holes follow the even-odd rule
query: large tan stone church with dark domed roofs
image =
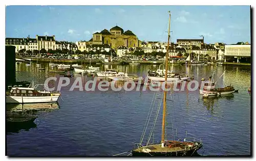
<svg viewBox="0 0 256 161">
<path fill-rule="evenodd" d="M 104 29 L 100 33 L 94 33 L 92 41 L 92 44 L 109 44 L 111 48 L 139 46 L 139 40 L 132 31 L 123 32 L 123 29 L 117 25 L 111 28 L 110 31 Z"/>
</svg>

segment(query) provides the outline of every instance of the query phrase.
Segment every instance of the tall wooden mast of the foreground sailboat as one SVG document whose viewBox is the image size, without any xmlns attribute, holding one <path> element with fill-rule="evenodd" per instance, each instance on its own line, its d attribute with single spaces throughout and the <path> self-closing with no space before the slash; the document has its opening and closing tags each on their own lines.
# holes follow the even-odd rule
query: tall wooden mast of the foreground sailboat
<svg viewBox="0 0 256 161">
<path fill-rule="evenodd" d="M 169 13 L 169 26 L 168 26 L 168 42 L 167 42 L 167 50 L 166 50 L 166 56 L 165 56 L 165 89 L 167 87 L 167 71 L 168 71 L 168 57 L 169 57 L 169 38 L 170 38 L 170 11 Z M 162 139 L 161 139 L 161 145 L 164 147 L 164 139 L 165 139 L 165 113 L 166 113 L 166 90 L 164 89 L 163 92 L 163 120 L 162 120 Z"/>
</svg>

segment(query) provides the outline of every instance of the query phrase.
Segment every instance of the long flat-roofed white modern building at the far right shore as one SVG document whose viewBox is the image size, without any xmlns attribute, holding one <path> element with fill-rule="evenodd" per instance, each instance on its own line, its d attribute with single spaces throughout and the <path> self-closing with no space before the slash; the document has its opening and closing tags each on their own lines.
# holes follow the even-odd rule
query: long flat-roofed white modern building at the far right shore
<svg viewBox="0 0 256 161">
<path fill-rule="evenodd" d="M 227 57 L 237 58 L 251 57 L 251 45 L 225 45 L 224 60 L 226 62 Z"/>
</svg>

